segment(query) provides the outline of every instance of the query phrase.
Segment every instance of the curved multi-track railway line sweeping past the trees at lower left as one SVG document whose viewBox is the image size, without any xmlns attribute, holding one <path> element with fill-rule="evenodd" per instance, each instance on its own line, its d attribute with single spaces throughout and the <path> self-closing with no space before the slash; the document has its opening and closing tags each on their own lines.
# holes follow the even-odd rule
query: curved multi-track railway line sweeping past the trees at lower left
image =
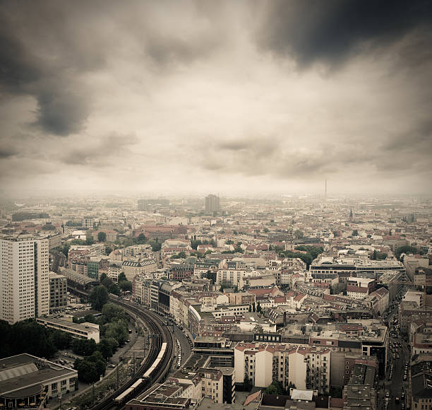
<svg viewBox="0 0 432 410">
<path fill-rule="evenodd" d="M 73 289 L 73 291 L 77 291 L 78 293 L 82 293 L 83 295 L 88 295 L 87 292 L 78 291 L 76 288 Z M 143 307 L 138 307 L 134 303 L 126 302 L 124 300 L 118 300 L 116 298 L 110 297 L 109 301 L 115 303 L 116 305 L 124 307 L 124 309 L 129 314 L 133 314 L 135 317 L 138 317 L 140 320 L 145 322 L 145 326 L 148 328 L 151 334 L 160 334 L 160 337 L 151 339 L 148 355 L 141 363 L 140 368 L 138 368 L 136 372 L 136 375 L 129 379 L 126 383 L 124 383 L 124 385 L 119 387 L 118 390 L 112 392 L 107 397 L 105 397 L 102 402 L 99 402 L 95 406 L 92 406 L 92 410 L 121 408 L 121 406 L 123 406 L 124 403 L 126 403 L 129 399 L 131 399 L 132 397 L 136 397 L 138 394 L 149 389 L 153 384 L 162 380 L 169 372 L 169 368 L 174 357 L 173 335 L 171 332 L 169 332 L 169 329 L 161 323 L 160 318 L 155 315 L 155 313 L 152 313 Z M 167 344 L 166 347 L 164 346 L 163 357 L 158 362 L 155 369 L 152 370 L 150 377 L 143 378 L 143 375 L 150 368 L 152 368 L 153 363 L 155 363 L 155 361 L 157 360 L 157 356 L 159 355 L 162 348 L 162 343 Z M 139 383 L 138 380 L 140 379 L 142 379 L 142 382 Z M 116 398 L 119 398 L 119 396 L 126 392 L 126 390 L 131 389 L 131 386 L 134 386 L 133 391 L 128 392 L 124 397 L 121 398 L 121 401 L 116 402 Z"/>
</svg>

